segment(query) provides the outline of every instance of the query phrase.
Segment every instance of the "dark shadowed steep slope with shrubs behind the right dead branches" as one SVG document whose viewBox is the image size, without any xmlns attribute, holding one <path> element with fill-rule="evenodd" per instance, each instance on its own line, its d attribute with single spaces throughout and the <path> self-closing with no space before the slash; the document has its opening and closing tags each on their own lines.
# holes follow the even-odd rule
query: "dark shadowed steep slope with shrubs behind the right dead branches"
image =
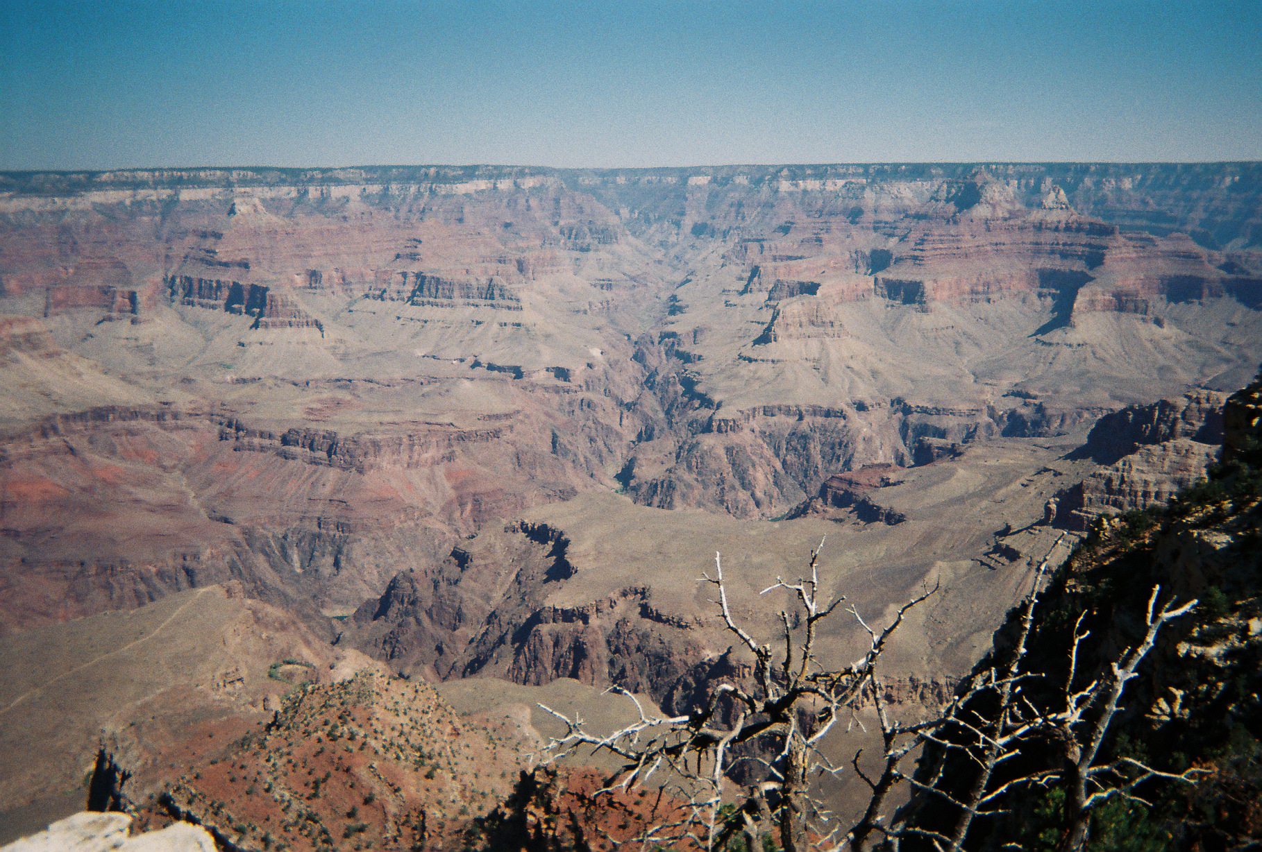
<svg viewBox="0 0 1262 852">
<path fill-rule="evenodd" d="M 991 814 L 962 836 L 962 848 L 993 848 L 997 842 L 1029 849 L 1258 843 L 1262 375 L 1227 400 L 1223 419 L 1223 458 L 1208 481 L 1169 504 L 1102 519 L 1056 573 L 1039 600 L 1020 665 L 1022 701 L 1031 708 L 1054 704 L 1093 678 L 1107 679 L 1111 666 L 1116 675 L 1123 649 L 1143 635 L 1145 610 L 1152 608 L 1146 601 L 1153 595 L 1171 607 L 1196 605 L 1159 635 L 1126 684 L 1118 712 L 1106 718 L 1107 730 L 1099 728 L 1104 702 L 1092 703 L 1070 736 L 1055 728 L 1031 736 L 997 767 L 987 786 L 997 793 Z M 1011 653 L 1020 621 L 1013 612 L 997 631 L 989 660 Z M 1076 659 L 1075 634 L 1088 636 L 1076 644 Z M 984 665 L 987 660 L 979 663 Z M 993 722 L 993 706 L 982 713 Z M 1094 736 L 1089 727 L 1103 736 L 1098 752 L 1087 755 L 1084 743 Z M 962 735 L 950 732 L 944 742 L 959 742 Z M 1070 771 L 1084 755 L 1093 765 L 1117 766 L 1088 781 L 1085 802 L 1083 790 L 1074 790 L 1082 772 Z M 941 756 L 941 748 L 926 754 L 921 780 Z M 946 760 L 943 794 L 958 796 L 978 783 L 976 762 L 960 752 Z M 1041 780 L 1031 783 L 1036 778 Z M 907 809 L 910 824 L 949 836 L 958 814 L 946 795 L 917 794 Z"/>
</svg>

